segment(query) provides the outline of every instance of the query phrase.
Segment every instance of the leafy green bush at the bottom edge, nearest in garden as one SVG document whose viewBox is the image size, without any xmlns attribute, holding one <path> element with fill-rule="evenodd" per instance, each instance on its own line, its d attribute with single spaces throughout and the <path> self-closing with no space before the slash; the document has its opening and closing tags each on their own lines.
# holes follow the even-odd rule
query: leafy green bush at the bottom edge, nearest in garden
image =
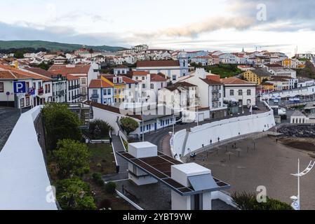
<svg viewBox="0 0 315 224">
<path fill-rule="evenodd" d="M 65 179 L 57 183 L 57 200 L 62 209 L 95 210 L 97 209 L 88 183 L 79 178 Z"/>
</svg>

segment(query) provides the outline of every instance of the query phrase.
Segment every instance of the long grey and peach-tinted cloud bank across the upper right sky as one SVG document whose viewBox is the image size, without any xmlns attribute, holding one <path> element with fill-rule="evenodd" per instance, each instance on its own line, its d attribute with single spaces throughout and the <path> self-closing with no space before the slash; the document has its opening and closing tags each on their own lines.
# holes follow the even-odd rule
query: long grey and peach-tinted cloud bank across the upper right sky
<svg viewBox="0 0 315 224">
<path fill-rule="evenodd" d="M 266 20 L 258 20 L 257 14 L 266 8 Z M 229 16 L 230 15 L 230 16 Z M 197 38 L 200 34 L 220 29 L 261 31 L 315 30 L 315 1 L 295 0 L 228 0 L 227 13 L 193 22 L 182 27 L 171 27 L 152 33 L 136 34 L 140 38 L 159 36 Z"/>
</svg>

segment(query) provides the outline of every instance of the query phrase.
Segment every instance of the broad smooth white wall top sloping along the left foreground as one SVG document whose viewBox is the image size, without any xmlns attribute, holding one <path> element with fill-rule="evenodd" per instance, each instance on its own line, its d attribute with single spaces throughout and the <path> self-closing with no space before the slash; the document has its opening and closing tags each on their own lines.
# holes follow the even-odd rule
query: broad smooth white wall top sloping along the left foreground
<svg viewBox="0 0 315 224">
<path fill-rule="evenodd" d="M 57 210 L 34 120 L 40 106 L 23 113 L 0 152 L 0 209 Z"/>
</svg>

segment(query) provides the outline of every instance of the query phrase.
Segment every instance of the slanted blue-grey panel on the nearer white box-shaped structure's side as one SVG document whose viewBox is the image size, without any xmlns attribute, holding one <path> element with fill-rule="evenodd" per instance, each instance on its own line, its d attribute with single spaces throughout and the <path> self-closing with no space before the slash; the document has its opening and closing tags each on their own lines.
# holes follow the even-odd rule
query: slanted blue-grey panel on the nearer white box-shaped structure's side
<svg viewBox="0 0 315 224">
<path fill-rule="evenodd" d="M 213 176 L 211 174 L 188 176 L 188 180 L 190 184 L 192 185 L 192 188 L 194 188 L 194 190 L 196 191 L 219 188 L 219 186 L 217 186 L 217 183 L 215 183 L 215 180 L 213 179 Z"/>
</svg>

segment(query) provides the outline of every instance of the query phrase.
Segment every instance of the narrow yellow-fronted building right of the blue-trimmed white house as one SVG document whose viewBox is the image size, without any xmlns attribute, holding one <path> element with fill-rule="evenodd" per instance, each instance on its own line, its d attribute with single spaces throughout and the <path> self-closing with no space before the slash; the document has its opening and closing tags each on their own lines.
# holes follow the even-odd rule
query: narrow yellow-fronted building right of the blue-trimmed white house
<svg viewBox="0 0 315 224">
<path fill-rule="evenodd" d="M 114 85 L 114 103 L 122 103 L 125 99 L 126 83 L 122 76 L 101 76 L 102 80 Z"/>
</svg>

